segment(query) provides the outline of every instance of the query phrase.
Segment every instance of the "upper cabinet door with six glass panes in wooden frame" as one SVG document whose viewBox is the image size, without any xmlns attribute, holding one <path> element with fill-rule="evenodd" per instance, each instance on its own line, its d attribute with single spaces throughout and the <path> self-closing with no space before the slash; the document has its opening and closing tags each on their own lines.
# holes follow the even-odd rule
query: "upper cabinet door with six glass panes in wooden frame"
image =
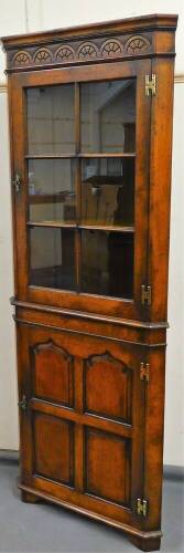
<svg viewBox="0 0 184 553">
<path fill-rule="evenodd" d="M 147 316 L 150 72 L 138 60 L 12 77 L 20 300 Z"/>
</svg>

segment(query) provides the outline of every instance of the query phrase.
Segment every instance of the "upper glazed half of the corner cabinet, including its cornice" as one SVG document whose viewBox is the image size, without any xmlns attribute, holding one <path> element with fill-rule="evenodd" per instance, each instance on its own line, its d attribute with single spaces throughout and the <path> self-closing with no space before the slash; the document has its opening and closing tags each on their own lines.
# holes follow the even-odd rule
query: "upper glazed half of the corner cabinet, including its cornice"
<svg viewBox="0 0 184 553">
<path fill-rule="evenodd" d="M 19 300 L 165 321 L 176 23 L 2 39 Z"/>
</svg>

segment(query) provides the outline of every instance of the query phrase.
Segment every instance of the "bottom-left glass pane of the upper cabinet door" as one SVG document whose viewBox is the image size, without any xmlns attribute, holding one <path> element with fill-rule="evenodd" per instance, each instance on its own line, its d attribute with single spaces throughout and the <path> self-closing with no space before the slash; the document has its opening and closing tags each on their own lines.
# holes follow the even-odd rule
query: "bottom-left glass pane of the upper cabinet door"
<svg viewBox="0 0 184 553">
<path fill-rule="evenodd" d="M 30 284 L 75 290 L 75 231 L 33 227 L 30 230 Z"/>
</svg>

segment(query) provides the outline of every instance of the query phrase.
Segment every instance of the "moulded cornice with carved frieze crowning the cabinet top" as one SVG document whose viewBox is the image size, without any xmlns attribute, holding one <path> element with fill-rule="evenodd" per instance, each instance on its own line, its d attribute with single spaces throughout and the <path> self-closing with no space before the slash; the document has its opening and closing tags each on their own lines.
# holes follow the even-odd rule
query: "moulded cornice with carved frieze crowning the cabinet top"
<svg viewBox="0 0 184 553">
<path fill-rule="evenodd" d="M 158 14 L 2 39 L 7 70 L 174 55 L 177 15 Z M 163 31 L 163 32 L 161 32 Z"/>
</svg>

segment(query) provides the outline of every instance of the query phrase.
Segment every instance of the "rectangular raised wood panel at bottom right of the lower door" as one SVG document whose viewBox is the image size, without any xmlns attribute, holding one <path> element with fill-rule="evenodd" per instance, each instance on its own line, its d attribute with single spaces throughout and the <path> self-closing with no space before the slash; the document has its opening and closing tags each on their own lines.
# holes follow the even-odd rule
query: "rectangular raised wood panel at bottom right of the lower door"
<svg viewBox="0 0 184 553">
<path fill-rule="evenodd" d="M 130 503 L 130 441 L 96 429 L 86 431 L 86 491 Z"/>
</svg>

